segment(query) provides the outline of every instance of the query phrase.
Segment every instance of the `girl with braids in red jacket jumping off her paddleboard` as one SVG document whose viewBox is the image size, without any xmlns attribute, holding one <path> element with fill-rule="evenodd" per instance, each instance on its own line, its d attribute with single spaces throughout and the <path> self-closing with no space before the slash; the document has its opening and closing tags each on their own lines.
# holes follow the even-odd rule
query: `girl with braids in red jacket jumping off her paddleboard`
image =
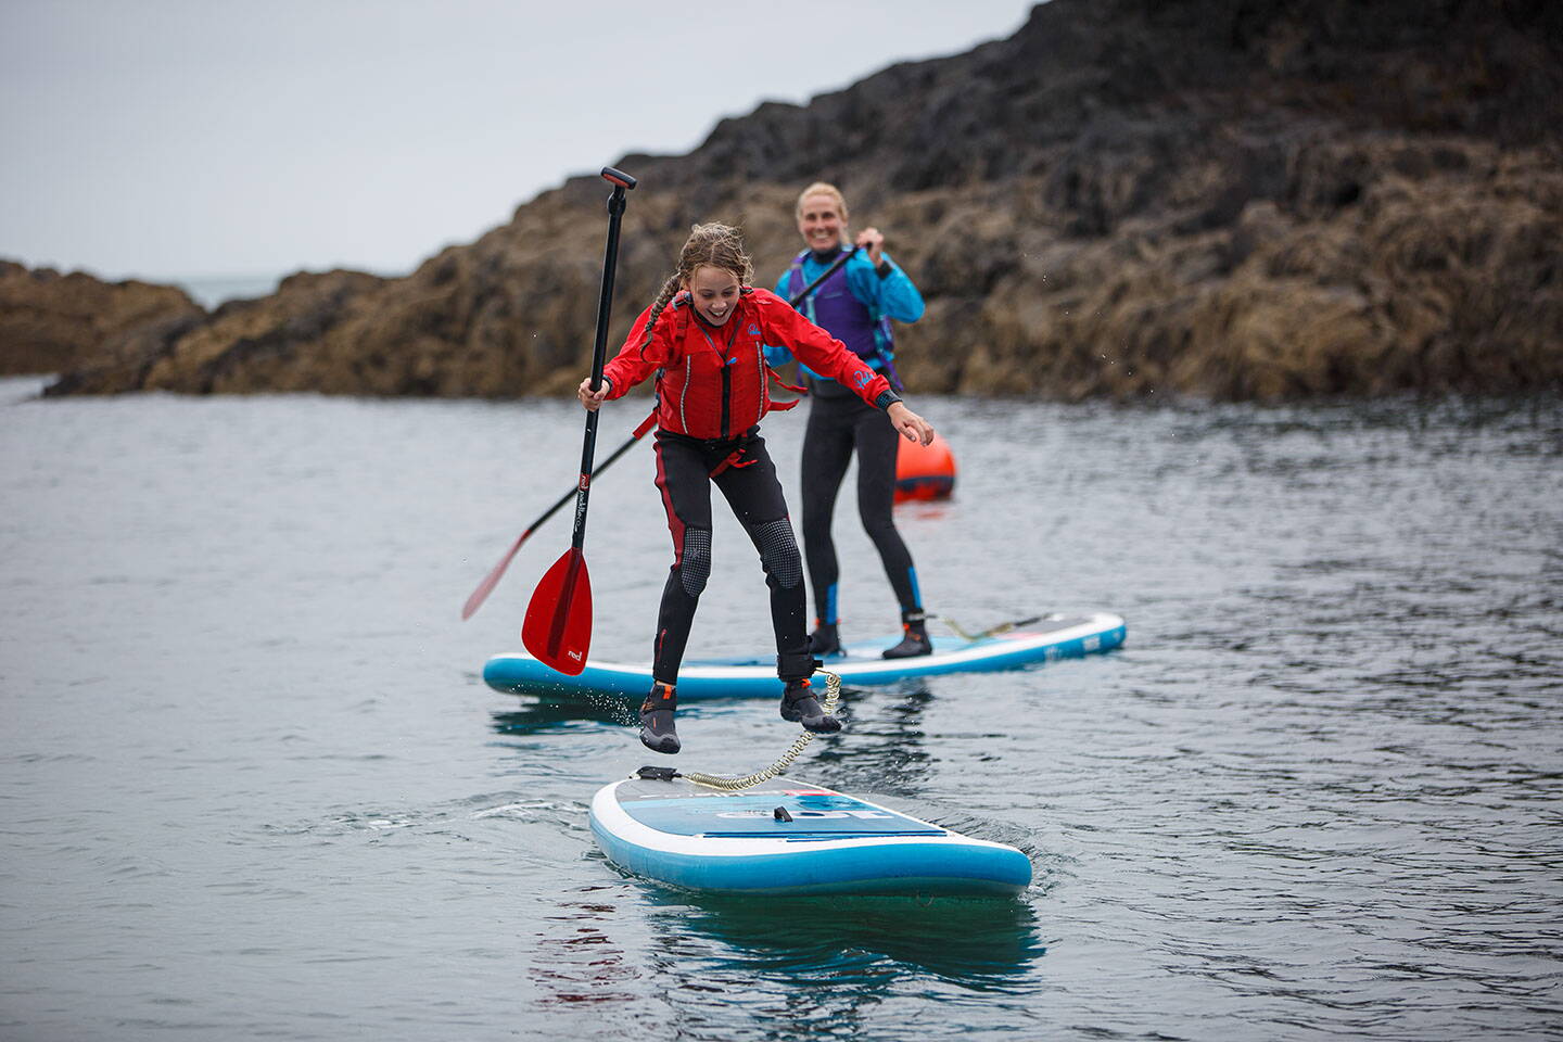
<svg viewBox="0 0 1563 1042">
<path fill-rule="evenodd" d="M 880 373 L 785 300 L 750 286 L 753 266 L 735 228 L 696 225 L 678 270 L 641 312 L 617 358 L 577 394 L 588 409 L 619 398 L 656 373 L 656 487 L 667 511 L 674 564 L 663 587 L 652 651 L 652 691 L 641 706 L 641 742 L 677 753 L 674 711 L 678 666 L 706 576 L 711 573 L 711 484 L 742 523 L 771 587 L 777 676 L 785 684 L 782 719 L 817 734 L 841 730 L 810 692 L 819 666 L 805 631 L 803 564 L 788 520 L 775 464 L 760 436 L 772 408 L 764 345 L 785 345 L 805 366 L 849 387 L 889 416 L 910 441 L 933 441 L 933 426 L 902 403 Z"/>
</svg>

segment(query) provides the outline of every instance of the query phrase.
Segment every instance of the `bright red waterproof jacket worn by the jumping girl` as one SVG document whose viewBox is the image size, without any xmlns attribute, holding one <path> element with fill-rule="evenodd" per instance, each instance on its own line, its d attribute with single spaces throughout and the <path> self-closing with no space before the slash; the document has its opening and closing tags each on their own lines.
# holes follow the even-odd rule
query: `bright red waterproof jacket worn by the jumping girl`
<svg viewBox="0 0 1563 1042">
<path fill-rule="evenodd" d="M 889 391 L 880 373 L 769 289 L 755 287 L 721 327 L 696 314 L 689 294 L 669 302 L 646 339 L 647 308 L 630 337 L 602 375 L 611 381 L 610 398 L 624 394 L 653 372 L 656 425 L 674 434 L 700 439 L 738 437 L 771 408 L 771 370 L 764 345 L 785 345 L 814 372 L 850 387 L 869 405 Z"/>
</svg>

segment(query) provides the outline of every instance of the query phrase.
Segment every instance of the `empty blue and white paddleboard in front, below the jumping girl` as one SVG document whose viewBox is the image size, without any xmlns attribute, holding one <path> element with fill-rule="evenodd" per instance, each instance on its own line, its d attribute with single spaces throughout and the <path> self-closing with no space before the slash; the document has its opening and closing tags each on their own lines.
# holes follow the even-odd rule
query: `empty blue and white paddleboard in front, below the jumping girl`
<svg viewBox="0 0 1563 1042">
<path fill-rule="evenodd" d="M 1010 897 L 1032 883 L 1014 847 L 788 778 L 724 792 L 636 775 L 597 792 L 591 831 L 625 872 L 689 890 Z"/>
</svg>

